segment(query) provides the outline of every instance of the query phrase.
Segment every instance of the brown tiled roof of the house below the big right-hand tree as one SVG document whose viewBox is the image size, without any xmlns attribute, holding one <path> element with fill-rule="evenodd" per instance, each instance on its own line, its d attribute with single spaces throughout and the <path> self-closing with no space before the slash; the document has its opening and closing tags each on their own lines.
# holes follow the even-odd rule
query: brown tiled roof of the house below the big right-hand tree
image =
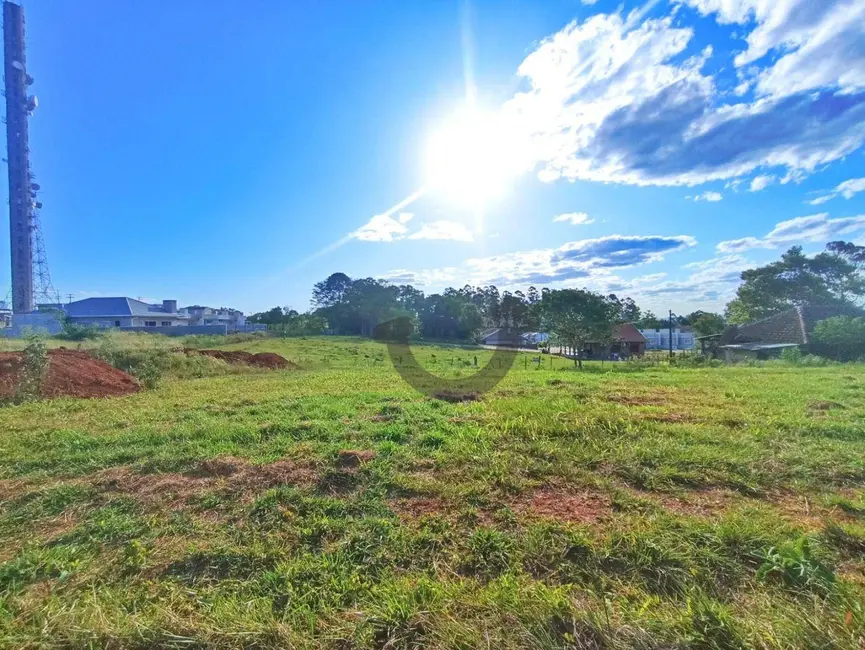
<svg viewBox="0 0 865 650">
<path fill-rule="evenodd" d="M 796 343 L 806 345 L 814 325 L 833 316 L 862 316 L 848 305 L 802 305 L 745 325 L 730 325 L 721 334 L 721 345 L 734 343 Z"/>
</svg>

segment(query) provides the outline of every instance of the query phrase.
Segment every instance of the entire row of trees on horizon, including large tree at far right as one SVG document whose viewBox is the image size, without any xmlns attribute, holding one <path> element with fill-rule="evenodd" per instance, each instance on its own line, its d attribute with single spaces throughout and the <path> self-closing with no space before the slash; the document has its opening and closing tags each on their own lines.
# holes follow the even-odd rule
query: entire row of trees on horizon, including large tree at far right
<svg viewBox="0 0 865 650">
<path fill-rule="evenodd" d="M 798 305 L 858 305 L 865 296 L 863 270 L 865 246 L 830 242 L 825 251 L 810 257 L 794 246 L 777 262 L 743 271 L 724 315 L 697 310 L 675 316 L 672 325 L 690 325 L 703 336 L 720 333 L 728 323 L 750 322 Z M 588 289 L 532 286 L 511 292 L 494 285 L 465 285 L 425 294 L 410 284 L 345 273 L 333 273 L 315 284 L 312 308 L 306 313 L 274 307 L 249 320 L 286 334 L 327 331 L 355 336 L 386 336 L 392 332 L 381 324 L 400 321 L 411 323 L 414 335 L 428 340 L 471 340 L 491 328 L 543 331 L 554 344 L 576 350 L 586 342 L 604 344 L 619 323 L 634 323 L 639 329 L 671 325 L 668 319 L 641 310 L 630 297 Z"/>
</svg>

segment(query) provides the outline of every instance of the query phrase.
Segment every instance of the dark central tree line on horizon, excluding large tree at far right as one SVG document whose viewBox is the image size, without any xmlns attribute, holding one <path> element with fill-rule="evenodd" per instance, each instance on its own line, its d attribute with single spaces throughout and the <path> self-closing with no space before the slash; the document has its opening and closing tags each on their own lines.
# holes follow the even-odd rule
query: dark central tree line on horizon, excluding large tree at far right
<svg viewBox="0 0 865 650">
<path fill-rule="evenodd" d="M 711 319 L 711 325 L 706 318 Z M 554 343 L 581 350 L 587 341 L 602 343 L 615 326 L 632 322 L 662 327 L 665 322 L 643 313 L 630 297 L 602 294 L 587 289 L 529 287 L 500 291 L 494 285 L 449 287 L 425 294 L 409 284 L 392 284 L 375 278 L 350 278 L 333 273 L 312 291 L 312 309 L 301 314 L 290 308 L 253 314 L 251 322 L 294 334 L 332 334 L 387 337 L 393 331 L 383 323 L 411 323 L 416 336 L 427 340 L 466 341 L 484 330 L 506 328 L 514 332 L 544 331 Z M 702 323 L 723 328 L 718 314 L 694 312 L 674 325 Z"/>
</svg>

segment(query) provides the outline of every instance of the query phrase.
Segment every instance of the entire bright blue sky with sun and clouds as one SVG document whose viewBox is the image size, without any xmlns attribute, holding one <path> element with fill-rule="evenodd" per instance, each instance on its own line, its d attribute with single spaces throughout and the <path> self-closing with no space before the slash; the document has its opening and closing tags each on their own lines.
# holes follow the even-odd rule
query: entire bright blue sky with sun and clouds
<svg viewBox="0 0 865 650">
<path fill-rule="evenodd" d="M 865 243 L 861 0 L 21 4 L 64 299 L 304 310 L 341 271 L 688 313 Z"/>
</svg>

